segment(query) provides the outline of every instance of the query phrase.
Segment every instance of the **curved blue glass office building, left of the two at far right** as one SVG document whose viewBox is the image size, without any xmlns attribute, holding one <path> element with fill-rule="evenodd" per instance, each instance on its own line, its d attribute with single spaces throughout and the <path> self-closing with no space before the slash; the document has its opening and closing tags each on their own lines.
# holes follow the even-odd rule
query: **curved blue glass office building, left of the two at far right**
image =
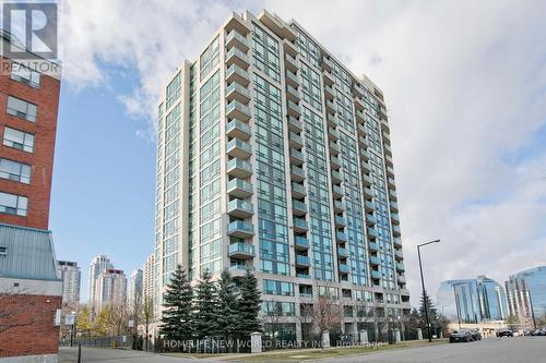
<svg viewBox="0 0 546 363">
<path fill-rule="evenodd" d="M 451 320 L 482 323 L 508 317 L 505 289 L 485 276 L 440 283 L 437 308 Z"/>
</svg>

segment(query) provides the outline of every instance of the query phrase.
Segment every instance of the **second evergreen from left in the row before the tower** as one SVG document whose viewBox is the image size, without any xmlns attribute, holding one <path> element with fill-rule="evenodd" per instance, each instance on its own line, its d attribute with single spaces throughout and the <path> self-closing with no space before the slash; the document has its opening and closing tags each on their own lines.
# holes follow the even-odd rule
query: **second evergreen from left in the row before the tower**
<svg viewBox="0 0 546 363">
<path fill-rule="evenodd" d="M 212 275 L 205 270 L 195 287 L 193 303 L 193 329 L 199 339 L 212 337 L 218 332 L 218 300 Z"/>
</svg>

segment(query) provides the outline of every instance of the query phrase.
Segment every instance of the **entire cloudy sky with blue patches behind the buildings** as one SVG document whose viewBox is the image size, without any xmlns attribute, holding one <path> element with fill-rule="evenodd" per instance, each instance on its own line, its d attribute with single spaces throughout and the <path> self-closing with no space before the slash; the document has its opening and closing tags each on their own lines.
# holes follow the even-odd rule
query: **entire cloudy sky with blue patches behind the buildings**
<svg viewBox="0 0 546 363">
<path fill-rule="evenodd" d="M 333 5 L 335 3 L 335 5 Z M 51 227 L 59 258 L 152 250 L 154 106 L 232 11 L 295 19 L 389 108 L 408 286 L 546 264 L 544 1 L 61 2 Z M 86 270 L 83 270 L 84 275 Z M 85 289 L 85 286 L 84 286 Z M 85 294 L 85 293 L 84 293 Z M 416 303 L 416 299 L 413 299 Z"/>
</svg>

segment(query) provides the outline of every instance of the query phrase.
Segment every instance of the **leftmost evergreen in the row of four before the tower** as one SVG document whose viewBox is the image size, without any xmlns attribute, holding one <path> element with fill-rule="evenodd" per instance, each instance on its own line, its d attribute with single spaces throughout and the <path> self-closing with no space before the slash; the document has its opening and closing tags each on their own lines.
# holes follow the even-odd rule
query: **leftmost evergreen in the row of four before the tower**
<svg viewBox="0 0 546 363">
<path fill-rule="evenodd" d="M 178 265 L 170 277 L 164 295 L 161 331 L 166 339 L 186 341 L 191 339 L 191 302 L 193 291 L 182 269 Z"/>
</svg>

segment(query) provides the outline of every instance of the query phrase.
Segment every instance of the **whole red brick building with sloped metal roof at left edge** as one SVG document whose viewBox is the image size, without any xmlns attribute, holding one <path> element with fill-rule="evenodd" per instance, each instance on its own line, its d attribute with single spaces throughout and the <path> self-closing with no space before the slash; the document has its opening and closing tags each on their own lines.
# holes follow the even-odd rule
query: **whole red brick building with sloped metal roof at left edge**
<svg viewBox="0 0 546 363">
<path fill-rule="evenodd" d="M 12 40 L 0 33 L 0 362 L 57 362 L 62 281 L 48 221 L 60 66 L 4 57 Z"/>
</svg>

